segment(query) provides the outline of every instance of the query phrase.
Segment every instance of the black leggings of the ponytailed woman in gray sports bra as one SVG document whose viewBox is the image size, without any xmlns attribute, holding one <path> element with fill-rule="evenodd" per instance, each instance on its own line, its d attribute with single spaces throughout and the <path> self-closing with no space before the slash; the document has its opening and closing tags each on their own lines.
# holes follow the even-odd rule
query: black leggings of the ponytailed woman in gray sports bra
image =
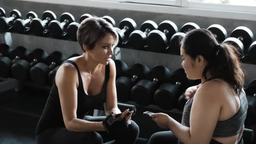
<svg viewBox="0 0 256 144">
<path fill-rule="evenodd" d="M 154 133 L 148 144 L 183 144 L 176 138 L 176 136 L 171 131 L 161 131 Z M 219 141 L 211 139 L 210 144 L 221 144 Z M 243 144 L 243 138 L 240 139 L 238 144 Z"/>
</svg>

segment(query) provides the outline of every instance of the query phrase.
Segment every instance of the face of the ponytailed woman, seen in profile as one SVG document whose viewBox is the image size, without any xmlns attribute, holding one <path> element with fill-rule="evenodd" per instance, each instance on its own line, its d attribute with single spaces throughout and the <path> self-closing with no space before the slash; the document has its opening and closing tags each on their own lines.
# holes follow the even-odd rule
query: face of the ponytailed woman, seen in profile
<svg viewBox="0 0 256 144">
<path fill-rule="evenodd" d="M 181 59 L 182 59 L 182 67 L 187 74 L 187 78 L 190 80 L 196 80 L 202 78 L 202 73 L 204 67 L 202 67 L 202 59 L 197 56 L 194 60 L 189 55 L 185 53 L 184 45 L 181 45 Z"/>
</svg>

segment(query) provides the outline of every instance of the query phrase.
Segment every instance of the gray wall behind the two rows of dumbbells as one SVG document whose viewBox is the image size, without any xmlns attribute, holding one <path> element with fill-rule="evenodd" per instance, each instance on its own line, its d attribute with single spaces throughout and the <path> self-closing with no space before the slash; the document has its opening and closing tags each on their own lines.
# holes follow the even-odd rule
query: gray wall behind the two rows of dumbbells
<svg viewBox="0 0 256 144">
<path fill-rule="evenodd" d="M 78 21 L 80 16 L 84 13 L 90 13 L 96 16 L 112 16 L 116 23 L 119 24 L 120 21 L 126 17 L 129 17 L 136 21 L 137 25 L 140 26 L 146 20 L 153 20 L 157 24 L 164 20 L 173 21 L 177 27 L 180 29 L 181 26 L 187 22 L 195 22 L 202 28 L 207 28 L 211 24 L 221 24 L 227 29 L 228 35 L 233 29 L 239 26 L 245 26 L 252 30 L 256 34 L 256 21 L 245 21 L 245 20 L 235 20 L 235 19 L 219 19 L 219 18 L 208 18 L 200 16 L 186 16 L 186 15 L 174 15 L 166 13 L 150 13 L 150 12 L 139 12 L 139 11 L 125 11 L 118 9 L 102 9 L 102 8 L 89 8 L 80 7 L 72 5 L 55 5 L 48 3 L 34 3 L 26 1 L 17 0 L 1 0 L 0 6 L 5 9 L 7 15 L 12 9 L 17 9 L 23 14 L 23 18 L 29 11 L 34 11 L 37 13 L 39 18 L 42 17 L 42 13 L 46 10 L 53 11 L 58 20 L 62 13 L 69 12 L 72 13 L 75 19 Z M 29 50 L 35 48 L 43 48 L 48 53 L 52 51 L 61 51 L 67 56 L 72 53 L 81 53 L 80 46 L 76 42 L 71 42 L 67 40 L 56 40 L 45 37 L 35 37 L 29 35 L 11 34 L 13 38 L 12 47 L 22 45 Z M 1 35 L 3 39 L 3 35 Z M 146 64 L 149 68 L 156 64 L 162 64 L 168 67 L 171 71 L 181 67 L 181 58 L 179 56 L 162 54 L 162 53 L 152 53 L 145 51 L 136 51 L 126 48 L 121 48 L 122 60 L 125 61 L 128 66 L 134 63 L 140 62 Z M 246 72 L 245 85 L 248 84 L 253 78 L 256 78 L 256 65 L 243 64 L 243 68 Z"/>
</svg>

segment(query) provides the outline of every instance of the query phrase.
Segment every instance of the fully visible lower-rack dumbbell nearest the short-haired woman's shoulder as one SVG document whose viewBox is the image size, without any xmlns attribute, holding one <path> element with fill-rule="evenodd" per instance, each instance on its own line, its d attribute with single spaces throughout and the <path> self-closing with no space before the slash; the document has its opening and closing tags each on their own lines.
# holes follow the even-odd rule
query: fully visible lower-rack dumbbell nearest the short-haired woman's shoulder
<svg viewBox="0 0 256 144">
<path fill-rule="evenodd" d="M 46 63 L 37 63 L 30 69 L 30 78 L 37 85 L 47 83 L 48 73 L 64 62 L 67 57 L 59 51 L 53 51 L 47 58 Z"/>
</svg>

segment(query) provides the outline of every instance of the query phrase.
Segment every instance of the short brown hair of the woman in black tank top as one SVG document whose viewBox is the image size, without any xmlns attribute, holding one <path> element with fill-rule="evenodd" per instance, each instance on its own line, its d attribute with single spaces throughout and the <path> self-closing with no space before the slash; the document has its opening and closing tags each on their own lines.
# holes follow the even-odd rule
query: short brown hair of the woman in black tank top
<svg viewBox="0 0 256 144">
<path fill-rule="evenodd" d="M 107 34 L 114 37 L 115 45 L 118 43 L 118 35 L 112 24 L 105 19 L 93 16 L 84 19 L 77 30 L 77 41 L 82 51 L 83 44 L 87 45 L 88 50 L 92 50 Z"/>
</svg>

